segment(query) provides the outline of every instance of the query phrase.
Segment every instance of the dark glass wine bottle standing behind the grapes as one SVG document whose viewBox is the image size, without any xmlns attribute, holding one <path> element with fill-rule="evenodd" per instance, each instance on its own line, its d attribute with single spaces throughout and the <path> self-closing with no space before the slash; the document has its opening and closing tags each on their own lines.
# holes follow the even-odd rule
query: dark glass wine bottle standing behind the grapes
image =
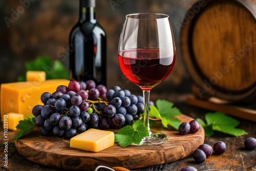
<svg viewBox="0 0 256 171">
<path fill-rule="evenodd" d="M 70 33 L 70 79 L 106 85 L 106 34 L 96 20 L 95 0 L 79 0 L 79 20 Z"/>
</svg>

